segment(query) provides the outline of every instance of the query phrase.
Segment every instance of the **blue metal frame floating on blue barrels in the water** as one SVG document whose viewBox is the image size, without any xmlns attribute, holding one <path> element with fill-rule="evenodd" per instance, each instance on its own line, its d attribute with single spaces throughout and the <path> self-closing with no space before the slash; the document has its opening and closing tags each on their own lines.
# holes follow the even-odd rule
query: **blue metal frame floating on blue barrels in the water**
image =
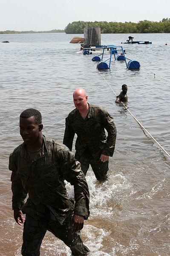
<svg viewBox="0 0 170 256">
<path fill-rule="evenodd" d="M 139 69 L 140 68 L 140 63 L 136 60 L 132 60 L 132 59 L 128 59 L 127 57 L 125 57 L 125 53 L 124 53 L 124 49 L 122 46 L 118 46 L 118 45 L 112 45 L 112 44 L 107 44 L 107 45 L 101 45 L 100 47 L 85 47 L 83 50 L 83 54 L 90 54 L 89 50 L 94 50 L 94 49 L 102 49 L 103 52 L 101 54 L 99 54 L 98 56 L 94 56 L 92 58 L 92 61 L 98 62 L 97 64 L 97 68 L 98 69 L 109 69 L 110 65 L 111 65 L 111 60 L 112 60 L 112 55 L 114 55 L 115 60 L 118 61 L 124 61 L 127 68 L 129 69 Z M 109 58 L 104 60 L 104 53 L 110 50 L 110 56 Z M 118 52 L 120 54 L 118 54 Z M 129 62 L 127 62 L 127 60 Z"/>
</svg>

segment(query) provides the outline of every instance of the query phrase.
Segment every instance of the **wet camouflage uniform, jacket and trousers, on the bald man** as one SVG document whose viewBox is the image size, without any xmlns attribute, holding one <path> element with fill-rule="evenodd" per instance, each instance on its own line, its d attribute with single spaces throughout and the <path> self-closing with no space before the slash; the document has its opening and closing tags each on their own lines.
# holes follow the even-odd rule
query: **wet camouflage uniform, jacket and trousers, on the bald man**
<svg viewBox="0 0 170 256">
<path fill-rule="evenodd" d="M 104 129 L 108 132 L 107 137 Z M 63 144 L 70 150 L 75 133 L 75 158 L 81 162 L 84 174 L 86 175 L 90 164 L 96 179 L 106 179 L 109 161 L 101 162 L 100 156 L 112 156 L 115 150 L 116 127 L 112 116 L 105 109 L 89 104 L 89 113 L 83 119 L 78 109 L 74 109 L 66 118 L 63 138 Z"/>
</svg>

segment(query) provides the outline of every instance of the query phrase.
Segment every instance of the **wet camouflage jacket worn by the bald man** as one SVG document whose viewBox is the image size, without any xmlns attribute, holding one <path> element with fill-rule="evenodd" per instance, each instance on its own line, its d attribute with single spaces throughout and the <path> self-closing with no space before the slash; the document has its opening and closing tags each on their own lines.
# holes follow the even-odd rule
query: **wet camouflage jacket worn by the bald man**
<svg viewBox="0 0 170 256">
<path fill-rule="evenodd" d="M 107 136 L 104 129 L 107 130 Z M 89 104 L 89 113 L 85 119 L 81 117 L 78 109 L 70 112 L 66 118 L 63 138 L 63 144 L 70 150 L 72 150 L 75 133 L 77 134 L 75 150 L 79 155 L 84 152 L 86 147 L 94 157 L 98 151 L 107 156 L 113 155 L 116 127 L 112 116 L 105 109 Z"/>
</svg>

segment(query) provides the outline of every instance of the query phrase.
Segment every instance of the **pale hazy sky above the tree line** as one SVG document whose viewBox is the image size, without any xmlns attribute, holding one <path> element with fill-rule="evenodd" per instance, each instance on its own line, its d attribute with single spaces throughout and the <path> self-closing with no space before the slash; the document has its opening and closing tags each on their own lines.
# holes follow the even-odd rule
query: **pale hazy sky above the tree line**
<svg viewBox="0 0 170 256">
<path fill-rule="evenodd" d="M 170 0 L 0 0 L 0 31 L 64 29 L 72 21 L 161 21 Z"/>
</svg>

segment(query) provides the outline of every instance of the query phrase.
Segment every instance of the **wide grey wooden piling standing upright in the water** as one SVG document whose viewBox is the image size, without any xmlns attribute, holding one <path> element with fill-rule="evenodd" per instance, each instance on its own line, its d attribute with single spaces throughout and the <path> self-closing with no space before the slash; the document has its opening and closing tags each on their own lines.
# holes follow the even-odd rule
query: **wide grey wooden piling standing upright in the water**
<svg viewBox="0 0 170 256">
<path fill-rule="evenodd" d="M 87 46 L 101 45 L 101 28 L 100 27 L 84 28 L 84 45 L 87 45 Z"/>
</svg>

